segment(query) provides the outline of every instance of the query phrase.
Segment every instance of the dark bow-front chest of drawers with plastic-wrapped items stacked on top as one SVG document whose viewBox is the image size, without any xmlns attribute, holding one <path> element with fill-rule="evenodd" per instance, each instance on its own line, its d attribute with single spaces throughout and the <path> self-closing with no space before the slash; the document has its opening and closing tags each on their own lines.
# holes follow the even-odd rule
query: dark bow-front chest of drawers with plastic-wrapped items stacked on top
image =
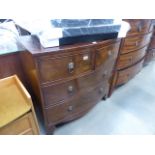
<svg viewBox="0 0 155 155">
<path fill-rule="evenodd" d="M 47 133 L 89 111 L 109 92 L 120 39 L 42 48 L 31 37 L 21 60 L 40 103 Z"/>
</svg>

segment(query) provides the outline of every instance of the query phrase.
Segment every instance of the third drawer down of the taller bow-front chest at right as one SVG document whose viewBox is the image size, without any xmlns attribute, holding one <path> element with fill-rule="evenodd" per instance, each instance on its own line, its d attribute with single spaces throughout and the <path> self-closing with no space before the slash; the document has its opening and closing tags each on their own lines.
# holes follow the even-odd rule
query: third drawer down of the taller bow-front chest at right
<svg viewBox="0 0 155 155">
<path fill-rule="evenodd" d="M 140 61 L 145 56 L 146 50 L 147 46 L 137 51 L 120 55 L 117 64 L 117 69 L 123 69 L 129 67 L 135 64 L 136 62 Z"/>
</svg>

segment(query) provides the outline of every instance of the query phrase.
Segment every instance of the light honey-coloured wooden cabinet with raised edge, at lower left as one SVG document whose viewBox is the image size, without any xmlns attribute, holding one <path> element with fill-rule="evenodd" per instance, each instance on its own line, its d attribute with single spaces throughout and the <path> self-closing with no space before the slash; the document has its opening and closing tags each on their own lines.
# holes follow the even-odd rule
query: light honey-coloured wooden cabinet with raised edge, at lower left
<svg viewBox="0 0 155 155">
<path fill-rule="evenodd" d="M 11 76 L 0 80 L 0 135 L 36 135 L 39 127 L 31 97 Z"/>
</svg>

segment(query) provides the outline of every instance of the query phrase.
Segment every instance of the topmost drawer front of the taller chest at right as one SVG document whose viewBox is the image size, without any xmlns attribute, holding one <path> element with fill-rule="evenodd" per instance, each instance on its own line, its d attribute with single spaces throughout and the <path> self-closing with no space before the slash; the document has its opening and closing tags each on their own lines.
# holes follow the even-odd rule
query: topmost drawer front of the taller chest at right
<svg viewBox="0 0 155 155">
<path fill-rule="evenodd" d="M 144 34 L 150 31 L 151 20 L 150 19 L 125 19 L 130 23 L 131 29 L 128 32 L 128 36 Z"/>
</svg>

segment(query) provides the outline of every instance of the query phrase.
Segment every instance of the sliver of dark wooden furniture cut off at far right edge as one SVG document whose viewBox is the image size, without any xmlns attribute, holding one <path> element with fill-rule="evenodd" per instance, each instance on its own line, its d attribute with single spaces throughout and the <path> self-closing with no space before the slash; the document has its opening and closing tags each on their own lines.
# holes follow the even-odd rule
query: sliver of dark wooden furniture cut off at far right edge
<svg viewBox="0 0 155 155">
<path fill-rule="evenodd" d="M 151 38 L 151 42 L 149 44 L 147 54 L 145 57 L 145 64 L 148 64 L 150 61 L 152 61 L 154 59 L 155 59 L 155 26 L 154 26 L 154 31 L 153 31 L 153 35 Z"/>
</svg>

